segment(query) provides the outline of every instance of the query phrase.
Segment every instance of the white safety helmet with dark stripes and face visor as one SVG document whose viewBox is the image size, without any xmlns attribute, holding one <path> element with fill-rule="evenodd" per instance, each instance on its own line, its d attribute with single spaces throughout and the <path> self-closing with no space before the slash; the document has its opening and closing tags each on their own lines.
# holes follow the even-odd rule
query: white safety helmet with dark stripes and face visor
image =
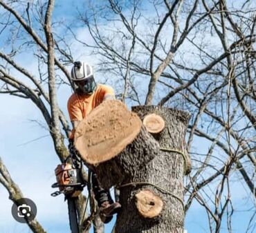
<svg viewBox="0 0 256 233">
<path fill-rule="evenodd" d="M 96 88 L 93 68 L 84 61 L 75 61 L 71 70 L 71 79 L 77 93 L 92 94 Z"/>
</svg>

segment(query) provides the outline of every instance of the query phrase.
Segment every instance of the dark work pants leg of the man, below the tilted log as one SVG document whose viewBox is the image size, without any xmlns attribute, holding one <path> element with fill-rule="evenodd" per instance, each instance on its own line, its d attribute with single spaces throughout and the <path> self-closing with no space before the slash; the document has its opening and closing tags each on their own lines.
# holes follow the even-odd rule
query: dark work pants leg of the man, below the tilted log
<svg viewBox="0 0 256 233">
<path fill-rule="evenodd" d="M 94 172 L 91 174 L 91 182 L 98 206 L 101 206 L 104 201 L 109 201 L 109 203 L 112 204 L 113 200 L 111 199 L 109 190 L 104 190 L 104 188 L 100 187 L 97 175 Z"/>
</svg>

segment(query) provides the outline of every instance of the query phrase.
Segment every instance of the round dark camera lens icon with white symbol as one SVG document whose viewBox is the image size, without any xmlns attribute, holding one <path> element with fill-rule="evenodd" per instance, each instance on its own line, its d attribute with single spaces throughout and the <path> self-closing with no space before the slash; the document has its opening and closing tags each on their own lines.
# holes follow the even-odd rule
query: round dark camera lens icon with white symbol
<svg viewBox="0 0 256 233">
<path fill-rule="evenodd" d="M 12 205 L 12 216 L 19 223 L 27 223 L 35 219 L 37 206 L 30 199 L 19 199 Z"/>
</svg>

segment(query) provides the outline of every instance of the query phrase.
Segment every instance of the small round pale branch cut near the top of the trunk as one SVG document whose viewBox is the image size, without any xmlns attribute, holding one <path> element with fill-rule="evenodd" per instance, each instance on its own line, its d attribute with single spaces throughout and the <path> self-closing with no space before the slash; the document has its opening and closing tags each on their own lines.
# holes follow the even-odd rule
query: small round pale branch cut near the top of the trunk
<svg viewBox="0 0 256 233">
<path fill-rule="evenodd" d="M 159 115 L 152 113 L 145 116 L 143 125 L 145 125 L 148 132 L 158 134 L 165 128 L 165 121 Z"/>
</svg>

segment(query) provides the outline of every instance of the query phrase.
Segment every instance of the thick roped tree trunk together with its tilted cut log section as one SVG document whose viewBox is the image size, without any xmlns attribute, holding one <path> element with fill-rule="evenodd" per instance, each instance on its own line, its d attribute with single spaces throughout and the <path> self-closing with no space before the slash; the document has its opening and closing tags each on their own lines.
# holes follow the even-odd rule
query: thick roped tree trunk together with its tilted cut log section
<svg viewBox="0 0 256 233">
<path fill-rule="evenodd" d="M 117 216 L 115 233 L 183 232 L 185 132 L 189 114 L 159 106 L 134 107 L 134 112 L 141 120 L 148 114 L 156 115 L 147 118 L 147 121 L 144 121 L 146 127 L 139 126 L 140 131 L 134 139 L 130 140 L 119 154 L 115 154 L 111 153 L 116 151 L 115 148 L 108 148 L 109 145 L 116 146 L 116 143 L 108 142 L 109 134 L 117 134 L 112 131 L 118 128 L 120 119 L 129 121 L 127 125 L 133 128 L 133 120 L 129 119 L 136 117 L 134 118 L 134 113 L 131 112 L 129 116 L 129 111 L 119 102 L 114 108 L 113 105 L 115 102 L 112 101 L 98 106 L 95 112 L 91 112 L 91 118 L 78 125 L 80 129 L 76 130 L 75 146 L 83 153 L 84 162 L 98 174 L 98 181 L 103 188 L 110 188 L 112 185 L 120 188 L 122 210 Z M 128 112 L 124 113 L 125 111 Z M 111 112 L 115 114 L 111 116 Z M 107 119 L 107 116 L 111 117 Z M 99 119 L 102 119 L 100 128 L 97 123 Z M 140 124 L 138 119 L 135 121 L 135 128 L 138 130 Z M 161 121 L 164 121 L 164 124 Z M 161 130 L 155 131 L 158 127 L 155 127 L 154 122 L 163 125 Z M 129 137 L 130 133 L 126 134 L 126 131 L 131 132 L 129 127 L 118 132 L 118 140 L 124 141 L 127 135 Z M 101 134 L 104 134 L 98 139 L 97 132 L 104 128 L 109 130 L 102 130 Z M 151 135 L 146 128 L 158 133 Z M 123 135 L 120 132 L 124 132 Z M 93 143 L 90 141 L 92 139 Z M 86 145 L 93 146 L 98 153 L 93 154 L 94 150 L 86 148 Z M 104 151 L 107 159 L 104 158 Z M 93 160 L 96 162 L 92 163 Z"/>
</svg>

